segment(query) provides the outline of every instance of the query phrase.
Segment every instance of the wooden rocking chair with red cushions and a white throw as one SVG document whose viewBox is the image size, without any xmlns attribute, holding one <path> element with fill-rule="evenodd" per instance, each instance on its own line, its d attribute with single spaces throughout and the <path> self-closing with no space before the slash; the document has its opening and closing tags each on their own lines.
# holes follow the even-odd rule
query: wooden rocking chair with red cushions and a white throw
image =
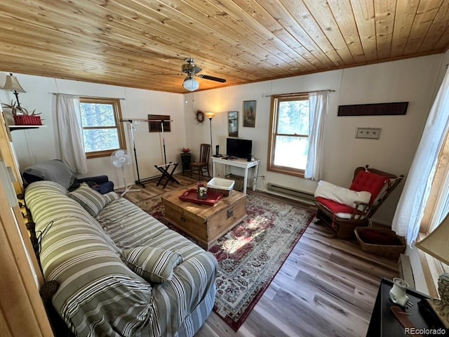
<svg viewBox="0 0 449 337">
<path fill-rule="evenodd" d="M 315 192 L 316 217 L 339 239 L 354 238 L 354 229 L 370 224 L 370 218 L 402 178 L 366 165 L 356 168 L 349 189 L 321 180 Z"/>
</svg>

